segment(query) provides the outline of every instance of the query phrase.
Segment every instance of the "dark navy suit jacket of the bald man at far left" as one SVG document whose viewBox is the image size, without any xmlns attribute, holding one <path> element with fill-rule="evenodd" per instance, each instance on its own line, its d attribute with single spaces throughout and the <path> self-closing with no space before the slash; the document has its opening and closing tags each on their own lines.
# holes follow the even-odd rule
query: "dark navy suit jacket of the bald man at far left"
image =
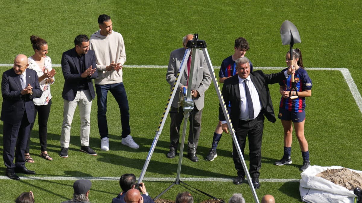
<svg viewBox="0 0 362 203">
<path fill-rule="evenodd" d="M 1 81 L 1 94 L 3 95 L 3 105 L 1 107 L 0 119 L 5 123 L 16 125 L 21 122 L 21 118 L 26 111 L 29 123 L 34 122 L 34 102 L 33 98 L 42 95 L 39 86 L 38 75 L 34 70 L 25 69 L 26 86 L 33 87 L 33 95 L 21 95 L 21 82 L 14 69 L 9 69 L 3 73 Z"/>
</svg>

